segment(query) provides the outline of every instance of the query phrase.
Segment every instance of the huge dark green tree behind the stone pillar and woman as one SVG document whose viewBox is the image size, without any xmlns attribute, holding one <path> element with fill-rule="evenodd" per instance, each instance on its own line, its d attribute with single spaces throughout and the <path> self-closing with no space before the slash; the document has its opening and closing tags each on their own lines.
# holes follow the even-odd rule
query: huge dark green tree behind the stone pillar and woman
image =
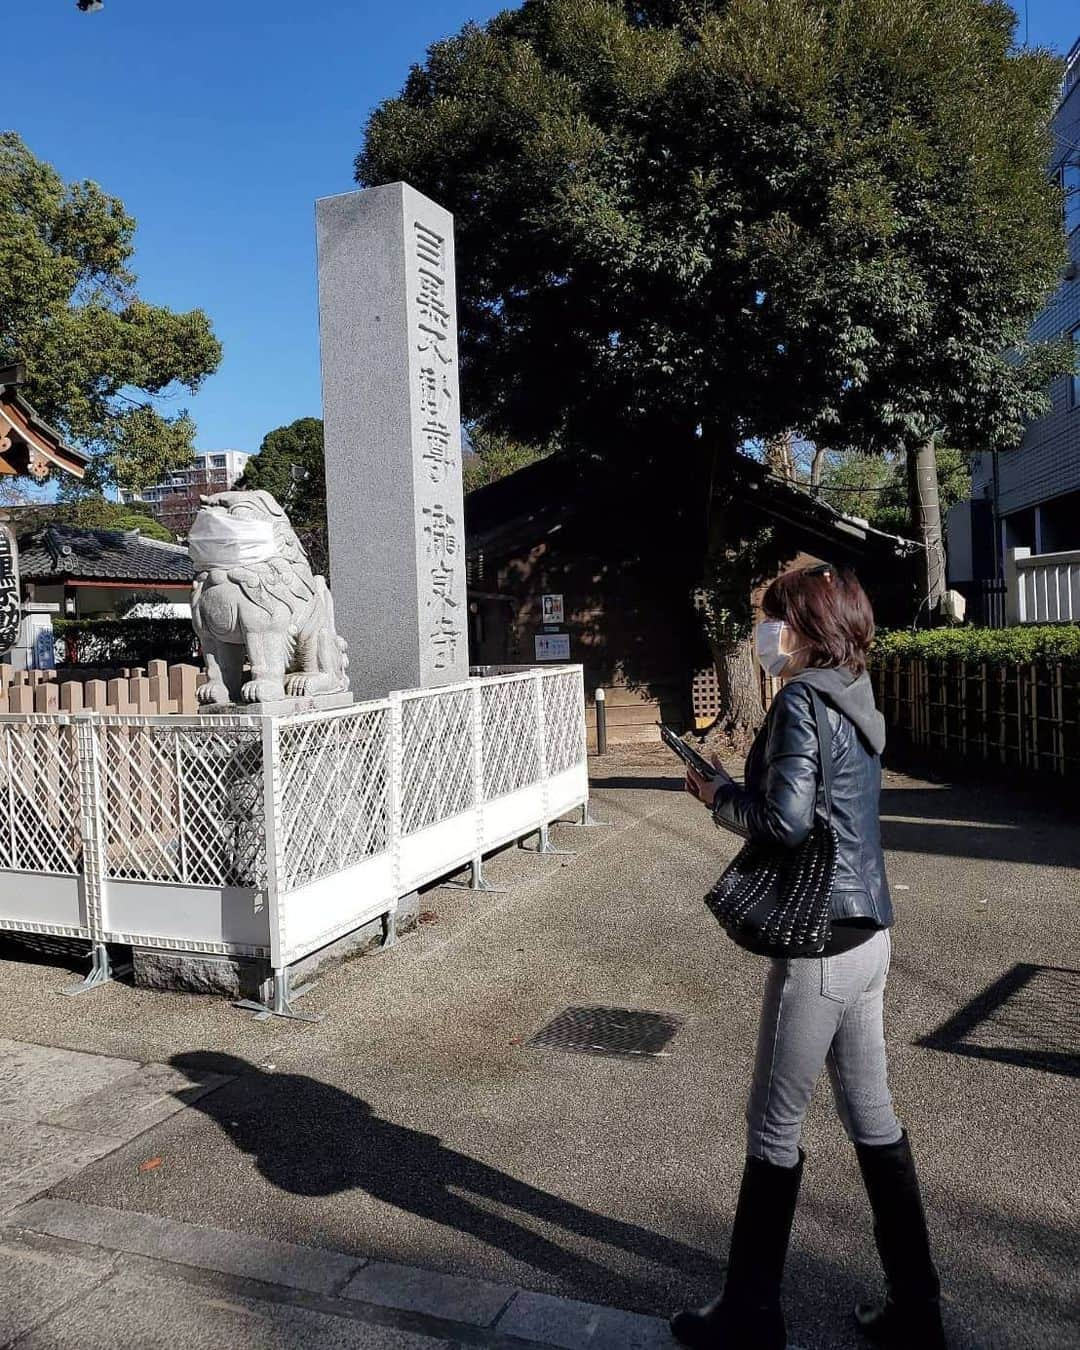
<svg viewBox="0 0 1080 1350">
<path fill-rule="evenodd" d="M 1064 261 L 1060 62 L 1014 23 L 1000 0 L 525 0 L 431 49 L 356 177 L 455 213 L 470 418 L 721 504 L 749 437 L 902 454 L 933 598 L 937 440 L 1015 443 L 1064 364 L 1026 343 Z M 730 539 L 714 510 L 710 572 Z"/>
</svg>

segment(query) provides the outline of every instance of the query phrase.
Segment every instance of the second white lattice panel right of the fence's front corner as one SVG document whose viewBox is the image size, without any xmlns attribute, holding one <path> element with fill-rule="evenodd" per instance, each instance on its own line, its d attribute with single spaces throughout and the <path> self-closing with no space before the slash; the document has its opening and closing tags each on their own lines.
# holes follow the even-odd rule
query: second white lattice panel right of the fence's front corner
<svg viewBox="0 0 1080 1350">
<path fill-rule="evenodd" d="M 401 705 L 401 833 L 470 810 L 477 801 L 470 690 Z"/>
</svg>

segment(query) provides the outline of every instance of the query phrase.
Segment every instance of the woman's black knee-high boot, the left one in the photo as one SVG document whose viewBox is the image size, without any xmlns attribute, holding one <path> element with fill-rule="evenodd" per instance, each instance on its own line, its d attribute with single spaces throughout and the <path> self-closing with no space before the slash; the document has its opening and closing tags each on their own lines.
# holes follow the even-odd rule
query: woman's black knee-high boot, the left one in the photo
<svg viewBox="0 0 1080 1350">
<path fill-rule="evenodd" d="M 794 1168 L 747 1158 L 732 1227 L 724 1295 L 676 1312 L 671 1331 L 694 1350 L 784 1350 L 780 1281 L 787 1258 L 803 1154 Z"/>
</svg>

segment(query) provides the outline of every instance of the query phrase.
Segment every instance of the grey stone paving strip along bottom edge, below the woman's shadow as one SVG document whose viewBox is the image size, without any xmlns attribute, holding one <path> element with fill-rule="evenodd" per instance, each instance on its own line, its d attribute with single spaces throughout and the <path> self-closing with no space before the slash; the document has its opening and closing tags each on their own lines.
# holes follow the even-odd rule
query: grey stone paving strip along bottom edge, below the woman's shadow
<svg viewBox="0 0 1080 1350">
<path fill-rule="evenodd" d="M 0 1220 L 0 1350 L 675 1345 L 659 1318 L 73 1200 Z"/>
</svg>

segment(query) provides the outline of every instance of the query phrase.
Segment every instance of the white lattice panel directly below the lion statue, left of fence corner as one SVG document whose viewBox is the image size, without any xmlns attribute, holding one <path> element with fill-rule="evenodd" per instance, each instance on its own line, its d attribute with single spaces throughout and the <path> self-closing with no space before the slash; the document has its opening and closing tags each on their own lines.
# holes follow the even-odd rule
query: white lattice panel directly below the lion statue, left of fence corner
<svg viewBox="0 0 1080 1350">
<path fill-rule="evenodd" d="M 99 736 L 108 876 L 265 884 L 256 729 L 120 722 Z"/>
</svg>

